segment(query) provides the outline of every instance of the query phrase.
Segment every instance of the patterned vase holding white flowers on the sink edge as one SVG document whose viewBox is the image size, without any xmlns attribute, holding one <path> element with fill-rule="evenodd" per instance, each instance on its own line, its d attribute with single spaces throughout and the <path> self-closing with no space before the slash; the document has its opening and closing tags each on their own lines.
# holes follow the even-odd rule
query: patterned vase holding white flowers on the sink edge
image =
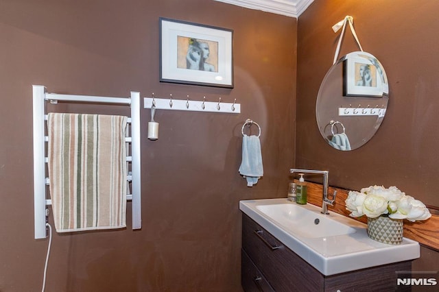
<svg viewBox="0 0 439 292">
<path fill-rule="evenodd" d="M 403 219 L 368 217 L 368 236 L 381 243 L 399 245 L 403 242 Z"/>
</svg>

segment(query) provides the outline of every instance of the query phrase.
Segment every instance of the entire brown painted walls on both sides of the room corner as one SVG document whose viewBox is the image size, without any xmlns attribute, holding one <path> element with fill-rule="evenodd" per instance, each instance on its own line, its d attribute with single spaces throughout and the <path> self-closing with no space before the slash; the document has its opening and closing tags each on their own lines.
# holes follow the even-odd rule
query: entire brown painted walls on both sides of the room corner
<svg viewBox="0 0 439 292">
<path fill-rule="evenodd" d="M 236 98 L 242 107 L 158 111 L 154 142 L 142 110 L 142 230 L 54 234 L 47 291 L 240 291 L 238 202 L 283 197 L 294 160 L 329 169 L 331 185 L 396 185 L 439 205 L 437 1 L 315 0 L 299 27 L 215 1 L 151 2 L 0 0 L 0 291 L 38 291 L 43 278 L 48 241 L 33 239 L 32 84 L 69 94 Z M 385 66 L 390 104 L 374 138 L 342 153 L 324 143 L 314 108 L 340 34 L 331 26 L 346 14 Z M 234 29 L 235 88 L 158 82 L 159 16 Z M 355 50 L 346 34 L 341 55 Z M 254 188 L 237 174 L 247 118 L 263 130 L 265 174 Z M 423 249 L 416 267 L 429 269 L 437 254 Z"/>
</svg>

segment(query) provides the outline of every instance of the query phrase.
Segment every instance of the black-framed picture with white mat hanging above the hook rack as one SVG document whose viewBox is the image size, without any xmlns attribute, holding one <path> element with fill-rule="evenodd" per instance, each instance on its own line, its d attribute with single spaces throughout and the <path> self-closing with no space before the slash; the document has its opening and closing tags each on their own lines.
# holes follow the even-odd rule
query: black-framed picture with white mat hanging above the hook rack
<svg viewBox="0 0 439 292">
<path fill-rule="evenodd" d="M 233 88 L 233 30 L 160 18 L 160 81 Z"/>
</svg>

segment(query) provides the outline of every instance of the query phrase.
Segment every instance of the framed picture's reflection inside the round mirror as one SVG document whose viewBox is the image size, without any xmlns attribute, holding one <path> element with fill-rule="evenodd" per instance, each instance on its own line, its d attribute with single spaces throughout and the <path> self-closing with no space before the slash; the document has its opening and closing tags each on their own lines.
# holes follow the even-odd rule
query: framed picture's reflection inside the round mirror
<svg viewBox="0 0 439 292">
<path fill-rule="evenodd" d="M 343 93 L 345 96 L 383 97 L 388 95 L 387 77 L 379 61 L 370 54 L 346 56 Z"/>
</svg>

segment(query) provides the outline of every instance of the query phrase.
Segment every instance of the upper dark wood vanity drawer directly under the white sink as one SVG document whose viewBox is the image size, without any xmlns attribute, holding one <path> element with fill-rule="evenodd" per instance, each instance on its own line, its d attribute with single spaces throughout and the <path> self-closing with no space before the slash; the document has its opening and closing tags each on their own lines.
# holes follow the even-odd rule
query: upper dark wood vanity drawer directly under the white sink
<svg viewBox="0 0 439 292">
<path fill-rule="evenodd" d="M 243 214 L 242 247 L 276 291 L 322 291 L 324 277 Z"/>
</svg>

